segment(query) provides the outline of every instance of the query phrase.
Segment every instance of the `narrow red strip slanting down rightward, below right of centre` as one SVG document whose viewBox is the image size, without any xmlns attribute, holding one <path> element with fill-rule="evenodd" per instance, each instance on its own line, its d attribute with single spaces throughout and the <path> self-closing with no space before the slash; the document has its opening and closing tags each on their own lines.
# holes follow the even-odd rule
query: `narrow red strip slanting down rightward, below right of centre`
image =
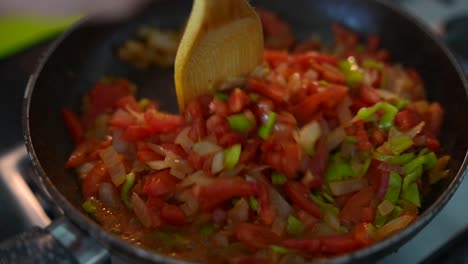
<svg viewBox="0 0 468 264">
<path fill-rule="evenodd" d="M 299 182 L 288 181 L 285 184 L 284 189 L 286 190 L 289 199 L 291 199 L 294 204 L 309 214 L 320 218 L 320 207 L 318 207 L 311 199 L 309 199 L 310 192 L 307 187 Z"/>
</svg>

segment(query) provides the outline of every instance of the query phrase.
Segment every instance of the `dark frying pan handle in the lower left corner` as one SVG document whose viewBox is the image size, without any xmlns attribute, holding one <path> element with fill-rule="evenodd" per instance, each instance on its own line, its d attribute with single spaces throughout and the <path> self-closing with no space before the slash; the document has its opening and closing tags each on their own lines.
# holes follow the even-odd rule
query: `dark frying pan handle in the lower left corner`
<svg viewBox="0 0 468 264">
<path fill-rule="evenodd" d="M 70 221 L 59 218 L 0 244 L 0 263 L 110 263 L 107 249 Z"/>
</svg>

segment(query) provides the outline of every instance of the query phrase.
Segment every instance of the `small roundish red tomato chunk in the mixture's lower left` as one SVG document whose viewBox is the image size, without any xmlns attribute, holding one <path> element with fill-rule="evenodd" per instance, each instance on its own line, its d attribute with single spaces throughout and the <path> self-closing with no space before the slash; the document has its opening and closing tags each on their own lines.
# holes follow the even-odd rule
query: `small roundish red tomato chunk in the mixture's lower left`
<svg viewBox="0 0 468 264">
<path fill-rule="evenodd" d="M 143 191 L 150 196 L 164 196 L 175 191 L 177 181 L 169 170 L 154 172 L 146 176 Z"/>
</svg>

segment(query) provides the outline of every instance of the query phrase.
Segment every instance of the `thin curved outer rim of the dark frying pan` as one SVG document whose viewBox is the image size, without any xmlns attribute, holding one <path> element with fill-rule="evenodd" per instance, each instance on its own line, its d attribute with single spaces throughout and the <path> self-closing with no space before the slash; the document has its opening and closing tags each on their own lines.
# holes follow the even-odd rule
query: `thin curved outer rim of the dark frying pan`
<svg viewBox="0 0 468 264">
<path fill-rule="evenodd" d="M 463 88 L 465 90 L 465 96 L 468 98 L 468 81 L 464 77 L 463 71 L 461 66 L 459 65 L 458 61 L 455 59 L 455 56 L 452 52 L 448 49 L 445 43 L 442 40 L 434 35 L 433 32 L 429 30 L 429 28 L 421 22 L 418 18 L 414 15 L 411 15 L 409 12 L 403 10 L 401 7 L 397 6 L 395 3 L 387 0 L 376 0 L 374 4 L 380 5 L 385 9 L 389 9 L 391 12 L 396 13 L 407 22 L 415 25 L 421 33 L 423 33 L 426 37 L 428 37 L 433 44 L 435 44 L 440 51 L 444 54 L 446 58 L 450 61 L 450 66 L 454 68 L 455 72 L 457 73 L 461 83 L 463 84 Z M 92 221 L 89 217 L 85 216 L 83 213 L 80 213 L 75 206 L 73 206 L 62 193 L 54 186 L 54 184 L 50 181 L 47 177 L 47 173 L 42 168 L 41 163 L 35 153 L 35 149 L 33 146 L 31 134 L 30 134 L 30 127 L 29 127 L 29 107 L 31 104 L 31 98 L 34 91 L 34 87 L 36 85 L 36 81 L 44 67 L 46 66 L 49 58 L 54 54 L 54 51 L 60 46 L 60 44 L 71 34 L 73 34 L 77 29 L 81 28 L 87 22 L 91 20 L 90 17 L 86 17 L 81 19 L 75 25 L 73 25 L 69 30 L 67 30 L 64 34 L 58 37 L 48 48 L 44 56 L 40 59 L 38 66 L 36 67 L 33 74 L 31 74 L 23 100 L 23 133 L 24 133 L 24 140 L 26 144 L 26 148 L 28 150 L 30 159 L 32 164 L 38 174 L 38 177 L 33 177 L 35 183 L 40 187 L 41 191 L 50 194 L 50 196 L 55 200 L 52 201 L 56 203 L 58 207 L 60 207 L 64 215 L 74 224 L 76 224 L 81 229 L 85 230 L 88 235 L 95 238 L 98 243 L 103 244 L 104 247 L 108 248 L 113 253 L 122 254 L 121 250 L 123 250 L 127 254 L 135 254 L 138 257 L 146 260 L 146 261 L 155 261 L 155 262 L 165 262 L 165 263 L 187 263 L 182 260 L 175 259 L 170 256 L 161 255 L 157 252 L 150 251 L 143 249 L 142 247 L 136 246 L 127 242 L 120 237 L 113 235 L 109 232 L 106 232 L 104 229 L 100 227 L 96 222 Z M 447 204 L 450 198 L 453 196 L 455 191 L 457 190 L 458 186 L 461 184 L 464 174 L 466 173 L 466 168 L 468 165 L 468 153 L 465 150 L 465 156 L 461 166 L 459 167 L 458 171 L 456 172 L 455 176 L 453 177 L 451 183 L 447 187 L 447 189 L 436 199 L 426 210 L 418 217 L 418 220 L 412 223 L 410 226 L 406 227 L 401 232 L 378 242 L 370 247 L 366 247 L 349 254 L 327 258 L 327 259 L 318 259 L 319 263 L 344 263 L 349 262 L 357 259 L 362 259 L 365 257 L 381 257 L 383 256 L 383 252 L 387 248 L 391 248 L 395 246 L 398 241 L 401 240 L 408 240 L 413 234 L 418 233 L 424 226 L 426 226 L 440 211 L 441 209 Z M 115 250 L 114 250 L 115 249 Z M 118 252 L 115 252 L 115 251 Z M 128 253 L 130 252 L 130 253 Z"/>
</svg>

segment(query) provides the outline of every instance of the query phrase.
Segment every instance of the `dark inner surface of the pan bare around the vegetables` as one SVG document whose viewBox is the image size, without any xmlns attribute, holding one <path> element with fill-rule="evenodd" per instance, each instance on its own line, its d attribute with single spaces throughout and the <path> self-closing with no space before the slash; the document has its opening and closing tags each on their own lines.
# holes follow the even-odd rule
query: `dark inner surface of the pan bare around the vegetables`
<svg viewBox="0 0 468 264">
<path fill-rule="evenodd" d="M 451 155 L 450 177 L 433 187 L 424 200 L 419 222 L 428 222 L 448 200 L 464 169 L 468 146 L 468 123 L 461 113 L 468 113 L 465 83 L 454 61 L 437 41 L 422 30 L 418 23 L 382 4 L 366 0 L 257 0 L 255 6 L 266 7 L 284 18 L 299 39 L 311 34 L 331 40 L 331 25 L 344 24 L 361 34 L 377 34 L 382 46 L 389 50 L 394 62 L 416 68 L 426 84 L 429 101 L 437 100 L 445 111 L 441 144 L 443 152 Z M 73 221 L 89 225 L 80 213 L 82 198 L 77 177 L 64 164 L 73 145 L 62 121 L 61 109 L 68 107 L 80 112 L 82 97 L 104 76 L 128 78 L 138 86 L 138 96 L 157 98 L 164 110 L 176 112 L 177 100 L 173 84 L 173 70 L 150 68 L 141 70 L 120 61 L 118 47 L 135 36 L 143 25 L 162 29 L 180 29 L 186 21 L 191 1 L 158 1 L 146 10 L 114 24 L 84 23 L 66 35 L 40 67 L 30 91 L 26 111 L 26 137 L 39 171 L 40 181 Z M 451 190 L 448 190 L 452 187 Z M 76 208 L 76 209 L 75 209 Z M 419 224 L 416 228 L 422 228 Z M 82 228 L 85 228 L 82 226 Z M 417 230 L 414 230 L 417 231 Z M 405 231 L 409 237 L 412 231 Z M 403 236 L 402 235 L 402 236 Z M 379 250 L 370 250 L 355 257 L 384 254 L 383 247 L 396 248 L 402 236 L 389 239 Z M 114 245 L 117 239 L 103 235 L 105 243 Z M 120 243 L 120 242 L 119 242 Z M 384 244 L 380 243 L 380 244 Z M 133 247 L 129 247 L 133 248 Z M 388 252 L 387 252 L 388 253 Z M 152 254 L 149 254 L 151 259 Z M 349 259 L 348 259 L 349 260 Z"/>
</svg>

